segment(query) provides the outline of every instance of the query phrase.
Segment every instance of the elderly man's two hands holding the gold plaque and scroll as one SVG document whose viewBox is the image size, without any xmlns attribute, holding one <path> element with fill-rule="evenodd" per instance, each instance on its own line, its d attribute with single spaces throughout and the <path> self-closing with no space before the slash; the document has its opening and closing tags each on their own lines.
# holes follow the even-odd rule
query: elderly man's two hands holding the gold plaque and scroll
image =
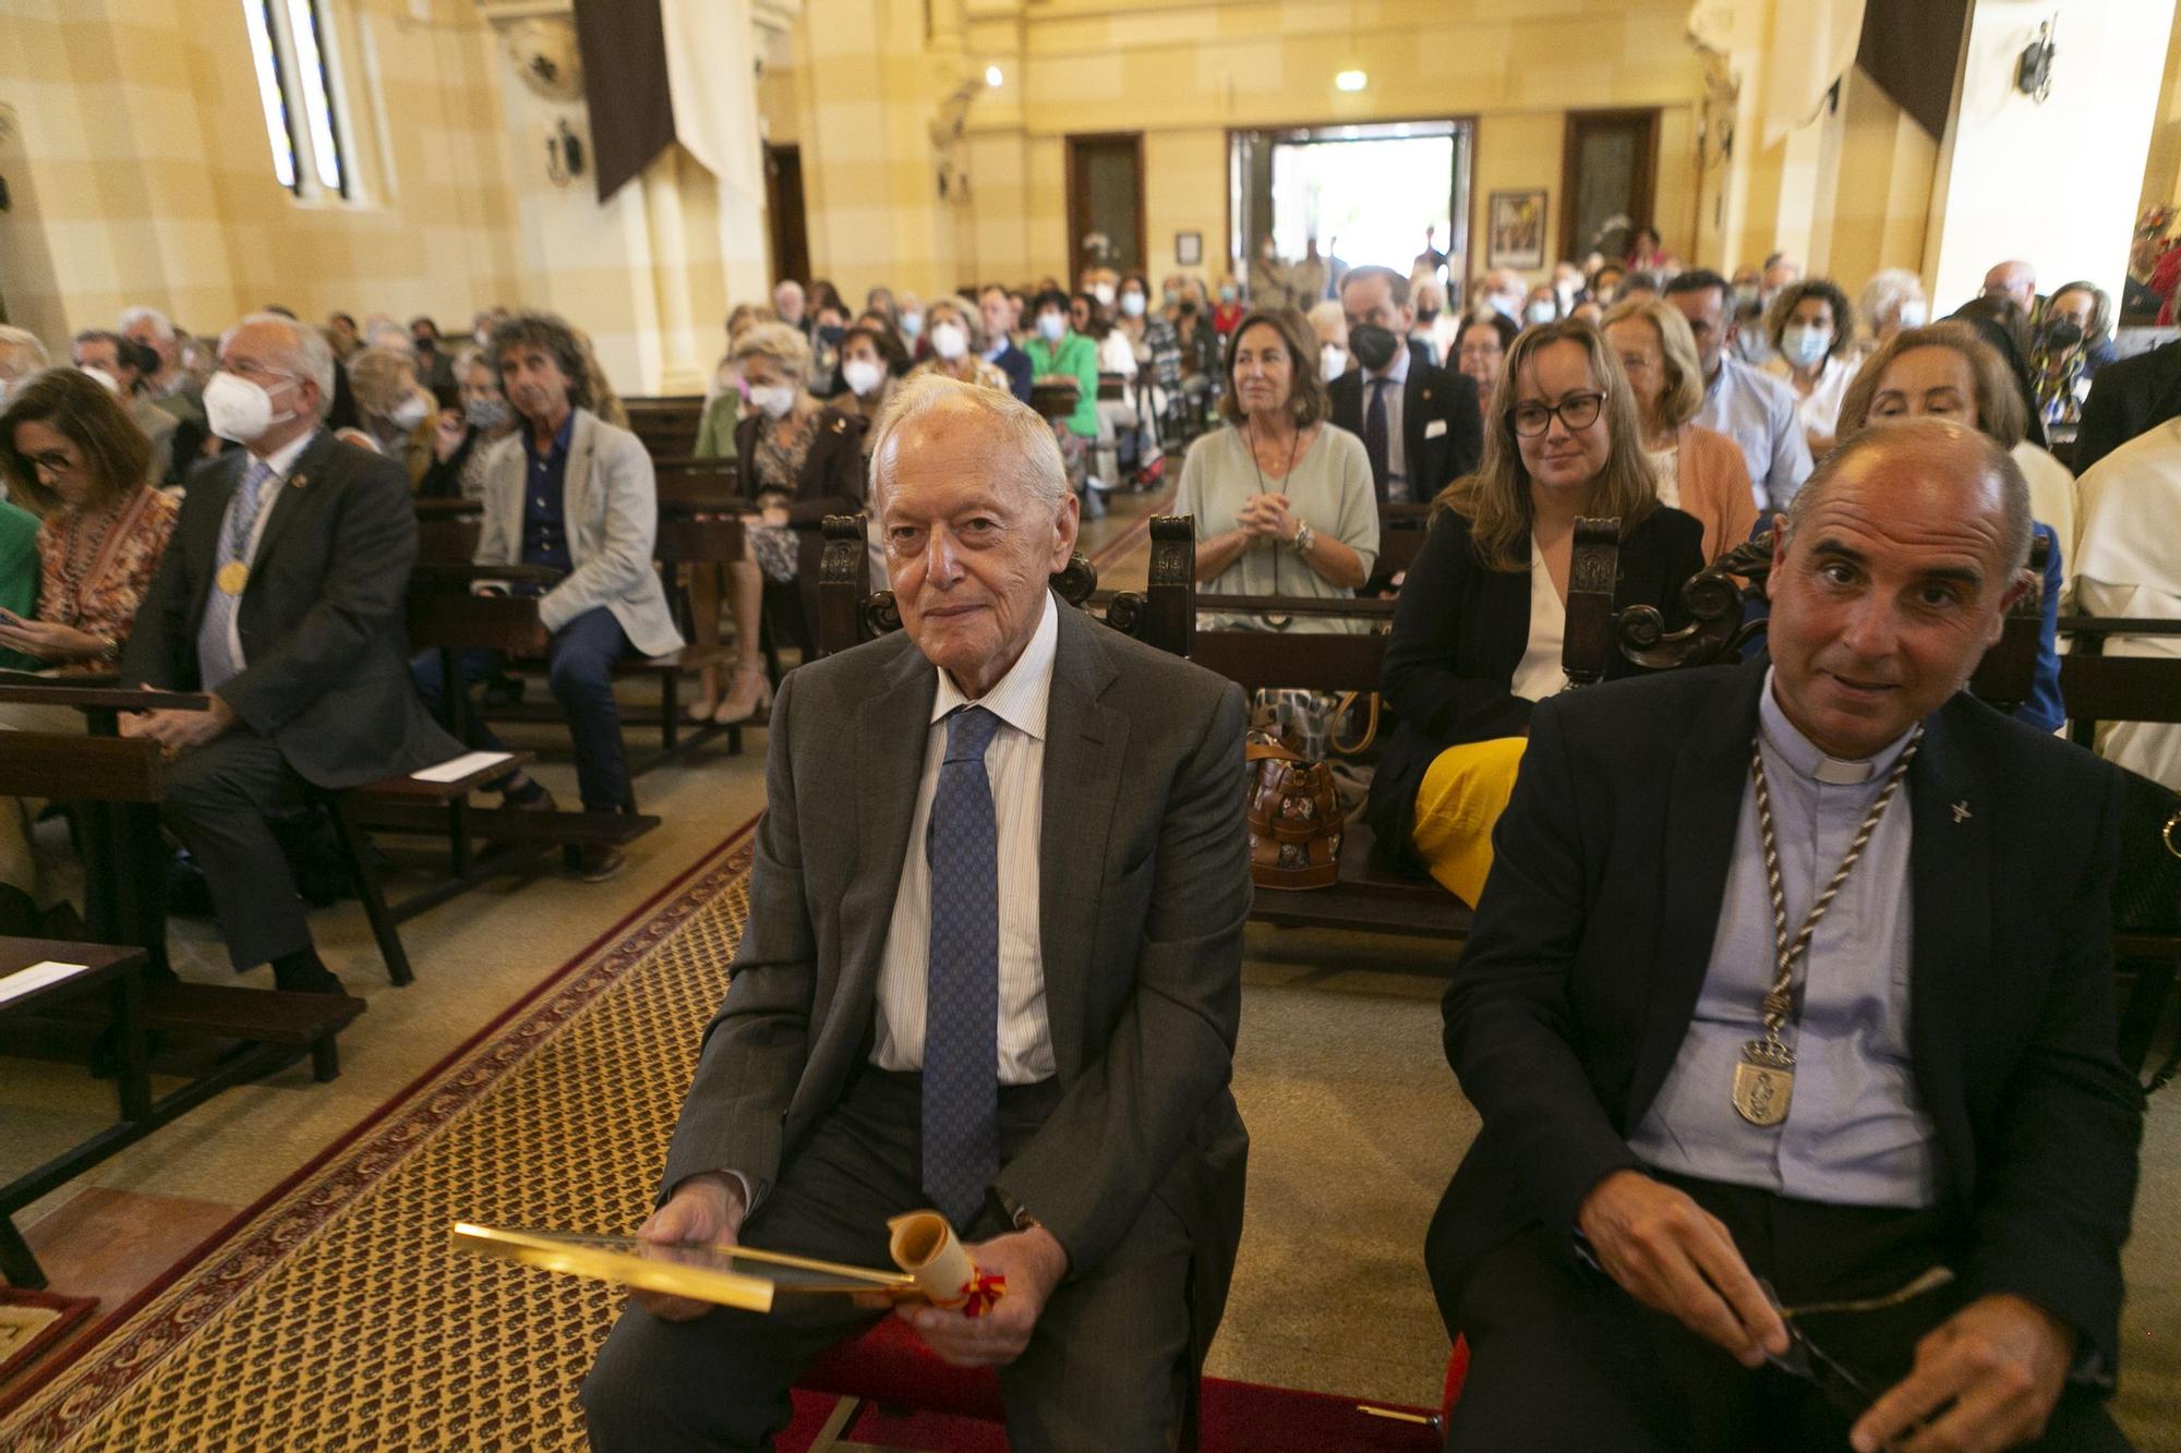
<svg viewBox="0 0 2181 1453">
<path fill-rule="evenodd" d="M 742 1235 L 744 1215 L 748 1215 L 748 1206 L 739 1180 L 720 1174 L 691 1176 L 674 1187 L 667 1204 L 637 1226 L 637 1239 L 733 1246 Z M 916 1329 L 916 1335 L 938 1353 L 940 1361 L 957 1368 L 1001 1368 L 1029 1346 L 1029 1333 L 1036 1331 L 1045 1302 L 1069 1272 L 1069 1254 L 1043 1226 L 992 1237 L 964 1246 L 964 1250 L 979 1272 L 1008 1278 L 1005 1294 L 981 1318 L 966 1318 L 947 1307 L 909 1302 L 896 1307 L 883 1294 L 857 1296 L 855 1300 L 859 1307 L 894 1307 L 894 1316 Z M 711 1302 L 689 1296 L 659 1292 L 630 1292 L 630 1296 L 665 1322 L 694 1322 L 707 1311 L 715 1311 Z"/>
</svg>

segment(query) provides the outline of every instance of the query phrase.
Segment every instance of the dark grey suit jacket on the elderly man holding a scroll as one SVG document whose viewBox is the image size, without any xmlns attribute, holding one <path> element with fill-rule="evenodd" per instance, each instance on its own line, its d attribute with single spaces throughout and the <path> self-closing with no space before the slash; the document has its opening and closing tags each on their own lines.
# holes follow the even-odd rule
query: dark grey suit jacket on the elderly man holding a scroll
<svg viewBox="0 0 2181 1453">
<path fill-rule="evenodd" d="M 665 1189 L 761 1187 L 870 1058 L 938 670 L 894 633 L 781 683 L 735 977 L 704 1030 Z M 1228 1089 L 1250 914 L 1241 689 L 1060 607 L 1038 929 L 1062 1100 L 1001 1167 L 1080 1276 L 1152 1196 L 1191 1228 L 1210 1342 L 1250 1141 Z"/>
</svg>

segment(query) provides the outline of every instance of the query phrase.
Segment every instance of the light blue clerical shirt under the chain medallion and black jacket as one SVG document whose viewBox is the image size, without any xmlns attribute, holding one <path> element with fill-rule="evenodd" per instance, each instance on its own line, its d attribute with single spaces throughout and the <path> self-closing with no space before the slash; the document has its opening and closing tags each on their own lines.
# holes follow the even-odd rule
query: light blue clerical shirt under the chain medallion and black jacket
<svg viewBox="0 0 2181 1453">
<path fill-rule="evenodd" d="M 1869 761 L 1825 757 L 1786 720 L 1771 676 L 1758 731 L 1793 940 L 1908 737 Z M 1780 1030 L 1795 1049 L 1786 1121 L 1751 1126 L 1736 1115 L 1730 1089 L 1743 1045 L 1762 1034 L 1775 953 L 1756 785 L 1745 781 L 1697 1012 L 1658 1100 L 1629 1137 L 1629 1150 L 1647 1165 L 1797 1200 L 1937 1202 L 1937 1130 L 1908 1056 L 1911 818 L 1902 783 L 1797 962 L 1802 1014 Z"/>
</svg>

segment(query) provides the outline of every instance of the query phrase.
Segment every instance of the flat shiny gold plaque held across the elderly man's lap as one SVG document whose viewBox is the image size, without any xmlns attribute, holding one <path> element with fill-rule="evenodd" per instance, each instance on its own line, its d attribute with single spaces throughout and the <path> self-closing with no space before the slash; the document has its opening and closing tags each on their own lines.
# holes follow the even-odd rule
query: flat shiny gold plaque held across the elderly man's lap
<svg viewBox="0 0 2181 1453">
<path fill-rule="evenodd" d="M 905 1272 L 875 1272 L 748 1246 L 506 1230 L 469 1222 L 456 1222 L 454 1246 L 478 1257 L 611 1281 L 641 1292 L 689 1296 L 744 1311 L 772 1311 L 776 1296 L 814 1292 L 835 1296 L 877 1292 L 894 1300 L 923 1300 L 916 1278 Z"/>
</svg>

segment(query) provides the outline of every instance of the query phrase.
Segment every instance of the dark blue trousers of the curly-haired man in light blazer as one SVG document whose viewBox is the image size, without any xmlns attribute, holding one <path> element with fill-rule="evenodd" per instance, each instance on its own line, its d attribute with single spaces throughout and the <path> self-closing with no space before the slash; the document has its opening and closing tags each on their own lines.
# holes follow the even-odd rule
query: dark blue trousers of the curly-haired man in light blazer
<svg viewBox="0 0 2181 1453">
<path fill-rule="evenodd" d="M 622 748 L 622 707 L 613 700 L 613 663 L 626 650 L 622 622 L 613 620 L 606 607 L 567 622 L 545 646 L 545 676 L 576 742 L 576 783 L 585 812 L 635 812 L 635 798 L 628 794 L 628 753 Z M 454 661 L 456 681 L 467 694 L 497 672 L 504 657 L 497 650 L 460 650 Z M 451 731 L 454 713 L 447 711 L 438 652 L 427 650 L 410 661 L 410 674 L 417 679 L 423 705 Z M 475 709 L 467 713 L 462 740 L 478 750 L 506 750 Z"/>
</svg>

